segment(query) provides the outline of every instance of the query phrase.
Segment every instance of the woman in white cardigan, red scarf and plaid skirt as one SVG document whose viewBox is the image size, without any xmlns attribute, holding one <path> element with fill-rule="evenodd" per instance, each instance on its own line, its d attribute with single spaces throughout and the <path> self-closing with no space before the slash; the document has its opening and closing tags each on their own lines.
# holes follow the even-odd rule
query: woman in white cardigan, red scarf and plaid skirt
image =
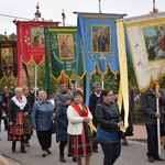
<svg viewBox="0 0 165 165">
<path fill-rule="evenodd" d="M 86 157 L 86 165 L 90 165 L 92 154 L 91 130 L 88 125 L 92 116 L 88 107 L 82 102 L 82 94 L 79 89 L 74 92 L 74 102 L 67 109 L 68 129 L 68 155 L 81 165 L 81 157 Z"/>
</svg>

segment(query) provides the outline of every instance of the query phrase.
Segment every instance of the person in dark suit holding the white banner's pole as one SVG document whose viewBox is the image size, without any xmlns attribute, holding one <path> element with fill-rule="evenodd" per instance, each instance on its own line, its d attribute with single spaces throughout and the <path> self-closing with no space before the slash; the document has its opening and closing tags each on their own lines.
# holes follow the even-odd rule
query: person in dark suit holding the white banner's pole
<svg viewBox="0 0 165 165">
<path fill-rule="evenodd" d="M 156 111 L 156 98 L 160 99 L 160 112 Z M 158 139 L 157 139 L 157 119 L 160 119 L 161 130 L 163 129 L 163 114 L 162 106 L 165 98 L 162 97 L 161 92 L 156 94 L 156 84 L 151 82 L 150 89 L 141 95 L 141 109 L 143 112 L 145 128 L 147 133 L 147 161 L 153 163 L 155 161 L 164 161 L 158 155 Z M 162 131 L 161 131 L 162 132 Z"/>
</svg>

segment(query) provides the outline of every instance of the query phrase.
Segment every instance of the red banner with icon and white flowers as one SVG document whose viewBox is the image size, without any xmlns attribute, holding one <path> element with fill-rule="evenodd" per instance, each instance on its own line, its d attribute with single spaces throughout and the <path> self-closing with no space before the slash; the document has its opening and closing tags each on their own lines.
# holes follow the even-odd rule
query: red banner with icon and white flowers
<svg viewBox="0 0 165 165">
<path fill-rule="evenodd" d="M 16 21 L 18 35 L 18 86 L 20 86 L 21 63 L 33 61 L 36 65 L 44 59 L 44 26 L 58 26 L 59 22 Z"/>
</svg>

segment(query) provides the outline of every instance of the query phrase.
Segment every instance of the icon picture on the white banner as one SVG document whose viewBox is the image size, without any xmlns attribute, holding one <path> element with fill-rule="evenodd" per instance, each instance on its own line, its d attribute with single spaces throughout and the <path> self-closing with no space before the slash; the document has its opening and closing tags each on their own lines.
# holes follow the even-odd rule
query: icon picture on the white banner
<svg viewBox="0 0 165 165">
<path fill-rule="evenodd" d="M 143 30 L 148 61 L 165 59 L 165 25 Z"/>
</svg>

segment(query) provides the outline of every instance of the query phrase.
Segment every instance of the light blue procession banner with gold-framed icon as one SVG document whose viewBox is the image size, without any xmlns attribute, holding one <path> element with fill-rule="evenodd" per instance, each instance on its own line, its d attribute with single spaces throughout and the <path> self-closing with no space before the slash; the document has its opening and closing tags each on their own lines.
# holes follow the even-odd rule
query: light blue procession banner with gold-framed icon
<svg viewBox="0 0 165 165">
<path fill-rule="evenodd" d="M 76 73 L 82 78 L 86 74 L 86 103 L 89 101 L 90 76 L 96 72 L 108 73 L 108 67 L 116 75 L 119 73 L 119 55 L 116 20 L 123 14 L 78 13 Z M 81 46 L 82 56 L 79 56 Z M 84 72 L 79 68 L 79 59 L 84 62 Z"/>
</svg>

